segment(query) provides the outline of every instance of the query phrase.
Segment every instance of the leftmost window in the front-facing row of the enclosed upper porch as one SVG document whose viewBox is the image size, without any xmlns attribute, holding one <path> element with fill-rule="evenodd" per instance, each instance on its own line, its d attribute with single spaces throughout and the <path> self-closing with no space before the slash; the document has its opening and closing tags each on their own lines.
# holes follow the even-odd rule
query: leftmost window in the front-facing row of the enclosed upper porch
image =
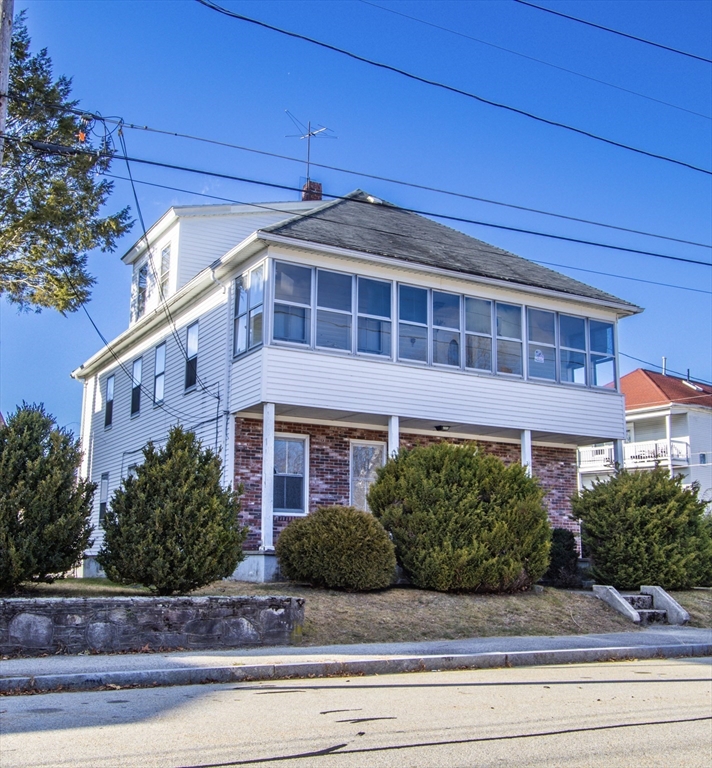
<svg viewBox="0 0 712 768">
<path fill-rule="evenodd" d="M 276 262 L 274 269 L 275 341 L 310 343 L 311 277 L 309 267 Z"/>
</svg>

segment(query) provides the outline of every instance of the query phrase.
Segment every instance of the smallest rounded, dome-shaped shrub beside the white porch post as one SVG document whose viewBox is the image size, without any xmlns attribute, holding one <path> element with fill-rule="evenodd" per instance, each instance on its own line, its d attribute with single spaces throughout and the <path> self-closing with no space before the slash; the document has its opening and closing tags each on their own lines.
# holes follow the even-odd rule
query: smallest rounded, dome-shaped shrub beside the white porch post
<svg viewBox="0 0 712 768">
<path fill-rule="evenodd" d="M 396 558 L 383 526 L 355 507 L 320 507 L 293 520 L 277 541 L 290 581 L 365 592 L 393 582 Z"/>
</svg>

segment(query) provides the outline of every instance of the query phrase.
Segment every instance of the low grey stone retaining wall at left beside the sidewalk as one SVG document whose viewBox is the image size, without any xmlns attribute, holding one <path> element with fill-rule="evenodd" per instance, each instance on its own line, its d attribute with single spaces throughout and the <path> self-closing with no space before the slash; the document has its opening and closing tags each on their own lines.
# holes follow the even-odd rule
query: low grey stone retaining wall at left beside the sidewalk
<svg viewBox="0 0 712 768">
<path fill-rule="evenodd" d="M 295 597 L 70 597 L 0 600 L 0 654 L 289 645 Z"/>
</svg>

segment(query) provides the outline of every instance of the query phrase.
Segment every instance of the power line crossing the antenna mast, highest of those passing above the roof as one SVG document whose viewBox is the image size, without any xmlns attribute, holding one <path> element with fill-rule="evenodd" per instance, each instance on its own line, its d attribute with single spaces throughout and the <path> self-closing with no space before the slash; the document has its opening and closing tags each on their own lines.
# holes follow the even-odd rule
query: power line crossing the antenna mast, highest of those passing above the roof
<svg viewBox="0 0 712 768">
<path fill-rule="evenodd" d="M 10 95 L 10 98 L 18 99 L 18 100 L 25 101 L 25 102 L 28 102 L 28 103 L 30 102 L 29 99 L 22 99 L 22 97 L 19 97 L 19 96 L 13 95 L 13 94 Z M 202 142 L 202 143 L 205 143 L 205 144 L 211 144 L 211 145 L 215 145 L 215 146 L 219 146 L 219 147 L 227 147 L 229 149 L 236 149 L 236 150 L 240 150 L 242 152 L 251 152 L 253 154 L 262 155 L 262 156 L 265 156 L 265 157 L 272 157 L 272 158 L 275 158 L 277 160 L 287 160 L 289 162 L 299 163 L 300 165 L 304 162 L 304 160 L 302 158 L 291 157 L 289 155 L 281 155 L 281 154 L 278 154 L 276 152 L 267 152 L 265 150 L 255 149 L 253 147 L 245 147 L 245 146 L 242 146 L 240 144 L 233 144 L 233 143 L 230 143 L 230 142 L 227 142 L 227 141 L 219 141 L 217 139 L 209 139 L 209 138 L 206 138 L 204 136 L 195 136 L 195 135 L 188 134 L 188 133 L 179 133 L 179 132 L 176 132 L 176 131 L 168 131 L 168 130 L 164 130 L 164 129 L 161 129 L 161 128 L 151 128 L 148 125 L 137 125 L 135 123 L 126 123 L 121 118 L 104 117 L 104 116 L 102 116 L 102 115 L 100 115 L 98 113 L 86 112 L 86 111 L 83 111 L 81 109 L 77 109 L 76 107 L 72 107 L 70 105 L 62 105 L 62 104 L 49 105 L 49 104 L 45 104 L 45 106 L 50 107 L 50 108 L 61 109 L 61 110 L 64 110 L 66 112 L 71 112 L 72 114 L 76 114 L 76 115 L 89 116 L 89 117 L 91 117 L 94 120 L 101 120 L 101 121 L 107 122 L 107 123 L 115 123 L 116 125 L 120 125 L 124 129 L 125 128 L 131 128 L 133 130 L 147 131 L 149 133 L 156 133 L 156 134 L 160 134 L 160 135 L 164 135 L 164 136 L 173 136 L 173 137 L 181 138 L 181 139 L 189 139 L 189 140 L 192 140 L 192 141 L 198 141 L 198 142 Z M 534 213 L 534 214 L 541 215 L 541 216 L 550 216 L 550 217 L 557 218 L 557 219 L 563 219 L 565 221 L 574 221 L 574 222 L 577 222 L 577 223 L 580 223 L 580 224 L 588 224 L 588 225 L 591 225 L 591 226 L 594 226 L 594 227 L 603 227 L 605 229 L 613 229 L 613 230 L 616 230 L 618 232 L 629 232 L 629 233 L 634 234 L 634 235 L 643 235 L 644 237 L 653 237 L 653 238 L 656 238 L 656 239 L 659 239 L 659 240 L 667 240 L 667 241 L 670 241 L 670 242 L 673 242 L 673 243 L 682 243 L 684 245 L 693 245 L 693 246 L 698 247 L 698 248 L 712 248 L 712 245 L 709 245 L 707 243 L 698 243 L 698 242 L 695 242 L 693 240 L 685 240 L 685 239 L 679 238 L 679 237 L 670 237 L 668 235 L 659 235 L 659 234 L 656 234 L 656 233 L 653 233 L 653 232 L 645 232 L 644 230 L 640 230 L 640 229 L 632 229 L 630 227 L 620 227 L 620 226 L 617 226 L 615 224 L 606 224 L 604 222 L 593 221 L 591 219 L 583 219 L 583 218 L 580 218 L 580 217 L 577 217 L 577 216 L 568 216 L 568 215 L 563 214 L 563 213 L 554 213 L 552 211 L 544 211 L 544 210 L 541 210 L 539 208 L 531 208 L 531 207 L 524 206 L 524 205 L 517 205 L 515 203 L 505 203 L 505 202 L 502 202 L 500 200 L 492 200 L 490 198 L 479 197 L 477 195 L 468 195 L 468 194 L 466 194 L 464 192 L 453 192 L 452 190 L 442 189 L 442 188 L 439 188 L 439 187 L 432 187 L 432 186 L 428 186 L 426 184 L 417 184 L 415 182 L 402 181 L 400 179 L 393 179 L 393 178 L 390 178 L 388 176 L 380 176 L 378 174 L 365 173 L 363 171 L 354 171 L 354 170 L 351 170 L 351 169 L 348 169 L 348 168 L 340 168 L 338 166 L 326 165 L 324 163 L 316 163 L 316 162 L 313 162 L 313 161 L 312 161 L 311 165 L 314 166 L 314 167 L 323 168 L 325 170 L 335 171 L 337 173 L 345 173 L 345 174 L 349 174 L 351 176 L 359 176 L 359 177 L 365 178 L 365 179 L 373 179 L 375 181 L 383 181 L 383 182 L 386 182 L 388 184 L 396 184 L 398 186 L 409 187 L 411 189 L 420 189 L 420 190 L 423 190 L 425 192 L 435 192 L 436 194 L 448 195 L 450 197 L 456 197 L 456 198 L 460 198 L 460 199 L 463 199 L 463 200 L 472 200 L 474 202 L 486 203 L 488 205 L 496 205 L 496 206 L 500 206 L 500 207 L 503 207 L 503 208 L 512 208 L 513 210 L 524 211 L 526 213 Z"/>
</svg>

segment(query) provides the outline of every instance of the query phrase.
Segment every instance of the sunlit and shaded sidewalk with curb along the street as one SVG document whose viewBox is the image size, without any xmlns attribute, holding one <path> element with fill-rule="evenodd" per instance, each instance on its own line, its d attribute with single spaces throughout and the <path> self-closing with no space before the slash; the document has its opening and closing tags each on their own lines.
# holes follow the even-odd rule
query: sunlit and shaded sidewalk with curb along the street
<svg viewBox="0 0 712 768">
<path fill-rule="evenodd" d="M 422 643 L 8 659 L 0 662 L 0 693 L 147 688 L 684 656 L 712 656 L 712 629 L 671 626 L 602 635 L 482 637 Z"/>
</svg>

